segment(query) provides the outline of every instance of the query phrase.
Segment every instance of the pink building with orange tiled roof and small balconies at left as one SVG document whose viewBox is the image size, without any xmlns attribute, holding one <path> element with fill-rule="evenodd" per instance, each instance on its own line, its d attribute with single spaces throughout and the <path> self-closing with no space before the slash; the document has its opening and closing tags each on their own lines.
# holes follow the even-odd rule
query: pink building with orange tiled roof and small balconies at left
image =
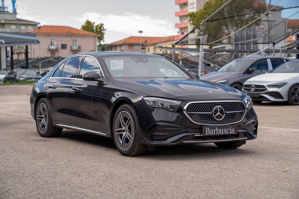
<svg viewBox="0 0 299 199">
<path fill-rule="evenodd" d="M 69 26 L 42 26 L 34 29 L 40 44 L 29 48 L 29 57 L 67 57 L 97 51 L 97 34 Z"/>
</svg>

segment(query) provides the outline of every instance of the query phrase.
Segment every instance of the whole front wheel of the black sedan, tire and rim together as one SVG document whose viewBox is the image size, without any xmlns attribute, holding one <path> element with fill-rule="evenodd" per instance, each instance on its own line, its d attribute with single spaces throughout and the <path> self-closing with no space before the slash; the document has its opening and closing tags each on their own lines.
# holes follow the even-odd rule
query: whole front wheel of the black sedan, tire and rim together
<svg viewBox="0 0 299 199">
<path fill-rule="evenodd" d="M 139 124 L 132 106 L 123 104 L 117 109 L 112 127 L 115 146 L 122 155 L 136 156 L 147 152 L 147 145 L 139 142 Z"/>
</svg>

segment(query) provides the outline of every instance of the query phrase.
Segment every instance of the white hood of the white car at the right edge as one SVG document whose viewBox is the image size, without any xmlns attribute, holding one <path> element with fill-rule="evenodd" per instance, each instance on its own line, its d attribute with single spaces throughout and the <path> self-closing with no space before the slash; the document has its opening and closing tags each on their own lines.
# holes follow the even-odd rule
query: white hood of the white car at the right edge
<svg viewBox="0 0 299 199">
<path fill-rule="evenodd" d="M 286 81 L 295 77 L 299 77 L 299 72 L 270 72 L 257 75 L 248 79 L 247 81 Z"/>
</svg>

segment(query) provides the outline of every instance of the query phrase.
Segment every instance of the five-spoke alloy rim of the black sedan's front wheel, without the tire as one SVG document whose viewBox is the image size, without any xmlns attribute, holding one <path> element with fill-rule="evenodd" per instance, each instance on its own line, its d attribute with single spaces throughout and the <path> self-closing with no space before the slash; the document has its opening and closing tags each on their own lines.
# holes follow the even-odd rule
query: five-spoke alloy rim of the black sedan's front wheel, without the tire
<svg viewBox="0 0 299 199">
<path fill-rule="evenodd" d="M 114 129 L 118 146 L 121 150 L 128 150 L 134 138 L 134 125 L 131 115 L 126 111 L 119 112 L 115 119 Z"/>
</svg>

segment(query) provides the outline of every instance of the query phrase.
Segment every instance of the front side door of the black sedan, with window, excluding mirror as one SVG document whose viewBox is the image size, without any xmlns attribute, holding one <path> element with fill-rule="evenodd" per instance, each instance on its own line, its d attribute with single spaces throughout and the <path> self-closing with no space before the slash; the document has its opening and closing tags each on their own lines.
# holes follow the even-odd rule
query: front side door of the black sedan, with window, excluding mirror
<svg viewBox="0 0 299 199">
<path fill-rule="evenodd" d="M 101 104 L 96 99 L 97 95 L 102 94 L 103 83 L 83 80 L 84 73 L 90 71 L 96 71 L 99 76 L 101 75 L 101 68 L 96 58 L 85 55 L 78 76 L 71 85 L 70 119 L 71 124 L 100 130 Z"/>
</svg>

